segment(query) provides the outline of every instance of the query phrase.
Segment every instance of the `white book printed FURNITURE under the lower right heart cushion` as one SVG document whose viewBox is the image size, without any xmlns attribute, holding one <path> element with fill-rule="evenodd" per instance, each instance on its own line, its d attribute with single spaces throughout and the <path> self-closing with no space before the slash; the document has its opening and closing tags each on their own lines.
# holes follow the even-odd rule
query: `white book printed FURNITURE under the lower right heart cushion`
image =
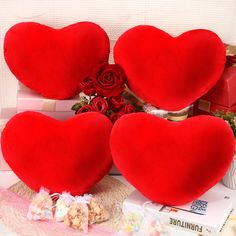
<svg viewBox="0 0 236 236">
<path fill-rule="evenodd" d="M 212 188 L 182 206 L 153 203 L 138 191 L 123 202 L 123 232 L 130 235 L 172 235 L 172 229 L 197 235 L 220 235 L 232 212 L 233 198 Z M 156 234 L 149 234 L 149 232 Z M 181 234 L 180 234 L 181 235 Z"/>
</svg>

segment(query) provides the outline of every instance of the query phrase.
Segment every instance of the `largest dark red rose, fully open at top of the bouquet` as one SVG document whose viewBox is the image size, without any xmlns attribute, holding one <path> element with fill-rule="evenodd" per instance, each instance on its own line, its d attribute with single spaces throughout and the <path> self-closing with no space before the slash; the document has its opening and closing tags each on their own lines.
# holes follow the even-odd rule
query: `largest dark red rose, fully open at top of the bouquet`
<svg viewBox="0 0 236 236">
<path fill-rule="evenodd" d="M 119 96 L 125 89 L 125 75 L 118 65 L 102 64 L 93 75 L 93 85 L 98 95 Z"/>
</svg>

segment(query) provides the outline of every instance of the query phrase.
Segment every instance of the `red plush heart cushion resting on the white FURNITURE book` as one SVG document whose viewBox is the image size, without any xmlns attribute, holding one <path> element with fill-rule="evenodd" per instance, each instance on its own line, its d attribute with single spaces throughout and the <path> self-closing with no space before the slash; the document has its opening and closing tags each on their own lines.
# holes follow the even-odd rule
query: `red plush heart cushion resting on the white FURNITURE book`
<svg viewBox="0 0 236 236">
<path fill-rule="evenodd" d="M 220 118 L 198 116 L 174 123 L 150 114 L 121 117 L 113 126 L 113 160 L 149 199 L 188 203 L 215 185 L 234 154 L 234 135 Z"/>
</svg>

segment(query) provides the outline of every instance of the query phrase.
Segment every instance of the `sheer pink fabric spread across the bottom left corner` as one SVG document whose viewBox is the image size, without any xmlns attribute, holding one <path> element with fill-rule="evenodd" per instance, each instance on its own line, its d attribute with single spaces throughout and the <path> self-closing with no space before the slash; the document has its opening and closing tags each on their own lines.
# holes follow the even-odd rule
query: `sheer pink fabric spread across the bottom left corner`
<svg viewBox="0 0 236 236">
<path fill-rule="evenodd" d="M 37 235 L 37 236 L 79 236 L 85 235 L 78 230 L 65 226 L 55 221 L 30 221 L 26 218 L 30 202 L 19 197 L 17 194 L 0 188 L 0 220 L 16 235 Z M 89 228 L 86 235 L 108 236 L 114 235 L 110 229 L 104 229 L 99 225 Z"/>
</svg>

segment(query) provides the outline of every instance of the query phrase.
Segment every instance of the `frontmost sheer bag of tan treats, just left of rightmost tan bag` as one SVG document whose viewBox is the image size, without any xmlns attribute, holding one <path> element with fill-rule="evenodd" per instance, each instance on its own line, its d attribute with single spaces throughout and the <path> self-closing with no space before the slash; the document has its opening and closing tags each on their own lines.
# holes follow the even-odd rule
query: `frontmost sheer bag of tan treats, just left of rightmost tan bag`
<svg viewBox="0 0 236 236">
<path fill-rule="evenodd" d="M 88 232 L 88 206 L 85 198 L 79 196 L 70 206 L 65 218 L 64 223 L 74 229 L 79 229 L 84 233 Z"/>
</svg>

